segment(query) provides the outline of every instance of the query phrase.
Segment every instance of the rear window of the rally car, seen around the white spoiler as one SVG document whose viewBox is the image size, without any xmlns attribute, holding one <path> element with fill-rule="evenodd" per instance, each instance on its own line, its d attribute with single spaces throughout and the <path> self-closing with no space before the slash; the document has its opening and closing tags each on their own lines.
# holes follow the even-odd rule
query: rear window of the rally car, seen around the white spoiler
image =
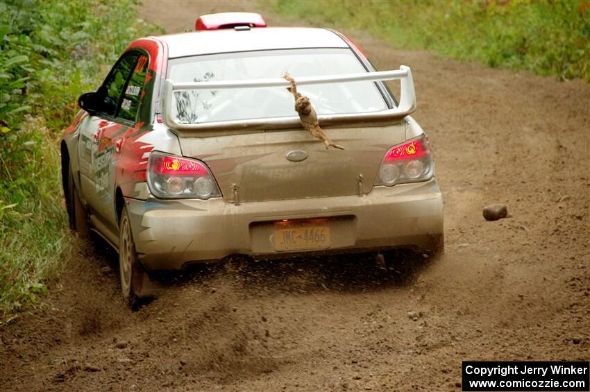
<svg viewBox="0 0 590 392">
<path fill-rule="evenodd" d="M 354 74 L 366 69 L 350 49 L 289 49 L 223 53 L 176 58 L 169 62 L 167 78 L 176 82 L 252 80 Z M 373 82 L 304 85 L 318 114 L 368 113 L 387 110 Z M 205 123 L 295 116 L 294 98 L 283 87 L 174 92 L 173 115 L 178 123 Z"/>
</svg>

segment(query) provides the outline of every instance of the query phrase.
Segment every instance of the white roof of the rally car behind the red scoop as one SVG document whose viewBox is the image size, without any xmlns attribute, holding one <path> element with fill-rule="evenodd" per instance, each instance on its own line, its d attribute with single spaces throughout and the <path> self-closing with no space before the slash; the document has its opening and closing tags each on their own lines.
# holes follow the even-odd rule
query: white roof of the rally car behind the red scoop
<svg viewBox="0 0 590 392">
<path fill-rule="evenodd" d="M 249 31 L 228 28 L 160 35 L 155 39 L 167 44 L 169 58 L 272 49 L 348 48 L 339 35 L 326 28 L 265 27 Z"/>
</svg>

